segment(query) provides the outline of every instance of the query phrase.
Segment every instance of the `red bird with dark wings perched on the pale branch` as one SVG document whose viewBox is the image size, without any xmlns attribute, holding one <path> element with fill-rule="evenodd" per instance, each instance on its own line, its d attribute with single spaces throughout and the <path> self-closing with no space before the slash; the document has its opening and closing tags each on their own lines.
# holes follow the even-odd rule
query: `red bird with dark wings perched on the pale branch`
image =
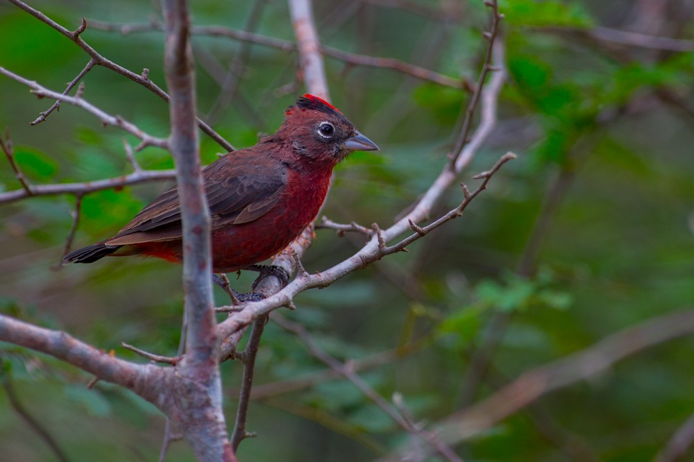
<svg viewBox="0 0 694 462">
<path fill-rule="evenodd" d="M 335 106 L 304 94 L 285 110 L 273 135 L 206 166 L 212 272 L 257 270 L 257 264 L 287 247 L 316 219 L 332 169 L 353 151 L 378 151 L 378 146 Z M 183 261 L 176 187 L 155 198 L 115 236 L 74 250 L 63 263 L 128 255 Z"/>
</svg>

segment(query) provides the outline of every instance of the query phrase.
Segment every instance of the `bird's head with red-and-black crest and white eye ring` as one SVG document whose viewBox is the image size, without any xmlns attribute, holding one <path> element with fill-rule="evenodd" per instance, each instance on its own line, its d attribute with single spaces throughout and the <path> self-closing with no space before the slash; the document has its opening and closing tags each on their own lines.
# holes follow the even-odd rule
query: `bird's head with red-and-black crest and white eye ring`
<svg viewBox="0 0 694 462">
<path fill-rule="evenodd" d="M 337 164 L 352 151 L 378 151 L 335 106 L 312 94 L 301 96 L 287 108 L 276 133 L 280 134 L 291 141 L 295 153 L 314 161 Z"/>
</svg>

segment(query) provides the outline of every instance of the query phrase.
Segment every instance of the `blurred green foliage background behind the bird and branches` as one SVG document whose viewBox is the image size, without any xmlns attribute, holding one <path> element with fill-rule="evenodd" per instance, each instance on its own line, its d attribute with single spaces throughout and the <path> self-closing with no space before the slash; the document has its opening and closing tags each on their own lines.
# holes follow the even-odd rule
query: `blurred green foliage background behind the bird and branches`
<svg viewBox="0 0 694 462">
<path fill-rule="evenodd" d="M 196 26 L 220 25 L 293 41 L 278 0 L 196 1 Z M 453 78 L 476 79 L 489 10 L 482 1 L 314 2 L 321 40 L 337 49 L 392 57 Z M 160 21 L 157 2 L 36 0 L 31 6 L 74 29 L 81 17 L 109 23 Z M 339 359 L 366 359 L 363 377 L 382 395 L 403 393 L 416 420 L 436 422 L 489 395 L 524 370 L 587 348 L 608 334 L 691 307 L 694 298 L 694 3 L 679 0 L 501 0 L 507 85 L 500 121 L 464 174 L 518 154 L 462 219 L 409 248 L 302 293 L 284 316 L 303 324 Z M 641 46 L 618 31 L 645 34 Z M 648 35 L 682 39 L 681 51 Z M 0 3 L 0 66 L 62 92 L 87 55 L 11 3 Z M 132 71 L 164 86 L 162 34 L 88 27 L 82 37 Z M 632 37 L 634 38 L 634 37 Z M 634 40 L 636 40 L 634 39 Z M 668 42 L 669 43 L 669 42 Z M 673 42 L 674 43 L 674 42 Z M 272 132 L 303 85 L 296 53 L 196 35 L 203 119 L 237 147 Z M 672 46 L 670 47 L 672 48 Z M 675 47 L 676 48 L 676 47 Z M 687 51 L 688 50 L 688 51 Z M 237 88 L 220 103 L 219 77 L 235 57 Z M 389 69 L 326 58 L 335 103 L 377 142 L 337 170 L 323 214 L 388 225 L 430 185 L 457 135 L 470 95 Z M 168 108 L 108 69 L 84 79 L 84 97 L 155 136 L 167 136 Z M 0 78 L 0 126 L 34 184 L 129 173 L 123 139 L 94 117 L 62 105 L 30 127 L 52 101 Z M 202 138 L 203 161 L 221 148 Z M 137 153 L 147 169 L 171 168 L 168 153 Z M 149 183 L 85 196 L 75 246 L 110 236 L 169 185 Z M 17 189 L 0 162 L 0 191 Z M 449 191 L 438 212 L 462 200 Z M 0 207 L 0 309 L 65 330 L 119 357 L 121 342 L 173 355 L 183 292 L 180 267 L 147 259 L 106 259 L 55 271 L 71 227 L 71 196 Z M 308 271 L 340 262 L 364 241 L 319 230 Z M 253 275 L 233 282 L 247 290 Z M 216 289 L 217 290 L 217 289 Z M 221 291 L 219 304 L 226 302 Z M 282 310 L 286 311 L 286 310 Z M 378 354 L 395 352 L 387 360 Z M 109 384 L 87 390 L 84 373 L 0 344 L 5 383 L 49 429 L 72 461 L 156 460 L 164 420 Z M 536 405 L 456 447 L 466 461 L 648 461 L 694 409 L 692 339 L 672 341 L 618 363 L 600 377 Z M 233 420 L 241 364 L 222 366 Z M 293 334 L 269 323 L 262 338 L 242 461 L 376 459 L 407 435 L 352 384 L 325 367 Z M 312 377 L 307 386 L 282 381 Z M 325 377 L 324 377 L 325 378 Z M 55 460 L 0 391 L 0 459 Z M 174 443 L 167 461 L 187 461 Z M 432 459 L 434 460 L 434 459 Z M 694 460 L 694 456 L 683 460 Z"/>
</svg>

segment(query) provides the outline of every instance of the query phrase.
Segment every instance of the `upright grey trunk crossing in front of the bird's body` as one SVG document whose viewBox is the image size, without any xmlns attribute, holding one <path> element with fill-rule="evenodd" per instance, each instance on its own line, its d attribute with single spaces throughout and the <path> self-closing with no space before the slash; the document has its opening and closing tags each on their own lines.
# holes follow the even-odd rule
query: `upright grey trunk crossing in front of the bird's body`
<svg viewBox="0 0 694 462">
<path fill-rule="evenodd" d="M 183 222 L 183 289 L 187 317 L 185 358 L 180 362 L 169 415 L 201 461 L 234 461 L 221 409 L 219 348 L 215 332 L 210 256 L 210 214 L 201 176 L 196 126 L 190 17 L 185 0 L 164 0 L 164 67 L 171 94 L 169 148 Z"/>
</svg>

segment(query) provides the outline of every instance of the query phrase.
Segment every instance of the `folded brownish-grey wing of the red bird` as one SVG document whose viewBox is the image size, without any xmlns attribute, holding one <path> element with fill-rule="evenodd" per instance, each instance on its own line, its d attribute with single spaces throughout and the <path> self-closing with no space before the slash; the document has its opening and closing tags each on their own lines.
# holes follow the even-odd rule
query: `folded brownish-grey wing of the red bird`
<svg viewBox="0 0 694 462">
<path fill-rule="evenodd" d="M 219 158 L 203 170 L 205 194 L 212 215 L 212 229 L 248 223 L 269 212 L 285 189 L 282 164 L 264 159 L 250 149 Z M 267 162 L 270 162 L 268 165 Z M 176 187 L 133 218 L 107 245 L 168 241 L 181 237 L 180 207 Z"/>
</svg>

